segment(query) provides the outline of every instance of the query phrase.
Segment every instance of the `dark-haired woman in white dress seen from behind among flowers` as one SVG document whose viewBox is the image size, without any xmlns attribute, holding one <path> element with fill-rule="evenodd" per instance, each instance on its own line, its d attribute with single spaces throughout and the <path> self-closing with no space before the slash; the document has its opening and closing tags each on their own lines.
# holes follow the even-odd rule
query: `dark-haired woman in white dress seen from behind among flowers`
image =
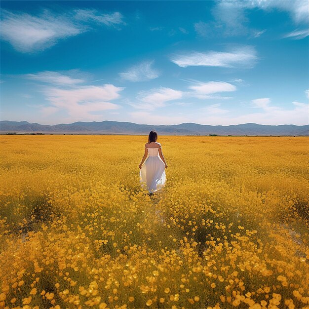
<svg viewBox="0 0 309 309">
<path fill-rule="evenodd" d="M 145 144 L 145 154 L 139 165 L 140 183 L 144 188 L 146 183 L 150 195 L 161 189 L 166 180 L 164 168 L 167 168 L 167 164 L 162 154 L 161 144 L 156 142 L 157 137 L 155 131 L 150 131 L 148 143 Z M 149 154 L 148 158 L 147 154 Z M 147 160 L 143 165 L 146 158 Z"/>
</svg>

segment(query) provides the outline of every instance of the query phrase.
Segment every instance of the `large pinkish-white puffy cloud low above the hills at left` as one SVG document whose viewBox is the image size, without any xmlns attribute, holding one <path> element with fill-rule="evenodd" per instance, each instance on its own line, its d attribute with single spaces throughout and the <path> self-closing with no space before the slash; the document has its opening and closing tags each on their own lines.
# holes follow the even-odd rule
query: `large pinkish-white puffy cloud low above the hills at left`
<svg viewBox="0 0 309 309">
<path fill-rule="evenodd" d="M 42 92 L 50 105 L 40 107 L 40 110 L 45 116 L 58 111 L 66 112 L 70 121 L 100 119 L 101 115 L 91 113 L 119 109 L 118 105 L 109 101 L 117 99 L 123 89 L 113 84 L 70 89 L 46 87 Z"/>
</svg>

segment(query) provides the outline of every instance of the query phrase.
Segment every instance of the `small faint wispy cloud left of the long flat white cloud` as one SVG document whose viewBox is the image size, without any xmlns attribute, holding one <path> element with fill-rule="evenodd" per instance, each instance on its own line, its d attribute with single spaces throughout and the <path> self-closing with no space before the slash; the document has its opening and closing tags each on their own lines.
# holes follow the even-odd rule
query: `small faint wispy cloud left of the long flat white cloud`
<svg viewBox="0 0 309 309">
<path fill-rule="evenodd" d="M 159 77 L 159 71 L 153 68 L 153 61 L 144 61 L 139 65 L 129 68 L 127 72 L 119 73 L 119 76 L 129 81 L 145 81 Z"/>
</svg>

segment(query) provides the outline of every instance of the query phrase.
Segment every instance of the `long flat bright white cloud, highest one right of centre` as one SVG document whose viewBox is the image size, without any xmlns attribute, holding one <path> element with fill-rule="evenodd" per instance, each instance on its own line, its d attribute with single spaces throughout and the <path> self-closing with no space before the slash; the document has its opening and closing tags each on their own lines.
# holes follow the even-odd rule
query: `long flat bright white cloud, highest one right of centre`
<svg viewBox="0 0 309 309">
<path fill-rule="evenodd" d="M 171 61 L 182 68 L 187 68 L 189 66 L 227 68 L 244 66 L 252 68 L 255 61 L 258 59 L 260 58 L 256 56 L 256 51 L 253 46 L 233 47 L 229 52 L 190 52 L 171 57 Z"/>
</svg>

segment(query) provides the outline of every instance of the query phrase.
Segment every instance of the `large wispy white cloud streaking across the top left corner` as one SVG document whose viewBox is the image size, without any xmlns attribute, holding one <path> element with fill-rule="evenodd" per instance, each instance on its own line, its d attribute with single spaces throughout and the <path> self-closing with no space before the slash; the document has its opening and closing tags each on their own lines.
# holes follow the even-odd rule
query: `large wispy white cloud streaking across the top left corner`
<svg viewBox="0 0 309 309">
<path fill-rule="evenodd" d="M 55 14 L 44 9 L 38 16 L 25 12 L 1 11 L 1 39 L 16 50 L 32 53 L 55 45 L 60 39 L 77 36 L 91 28 L 92 24 L 112 26 L 123 24 L 118 12 L 101 14 L 96 10 L 73 10 Z"/>
</svg>

